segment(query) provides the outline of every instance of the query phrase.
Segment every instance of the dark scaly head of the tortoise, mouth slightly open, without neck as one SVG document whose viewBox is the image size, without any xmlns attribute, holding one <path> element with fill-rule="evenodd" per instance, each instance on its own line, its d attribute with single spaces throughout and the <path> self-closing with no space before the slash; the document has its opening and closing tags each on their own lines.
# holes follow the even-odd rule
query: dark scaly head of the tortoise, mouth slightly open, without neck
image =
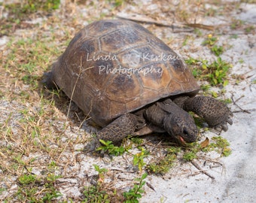
<svg viewBox="0 0 256 203">
<path fill-rule="evenodd" d="M 186 111 L 171 114 L 163 120 L 163 128 L 181 144 L 197 140 L 198 129 L 194 119 Z"/>
</svg>

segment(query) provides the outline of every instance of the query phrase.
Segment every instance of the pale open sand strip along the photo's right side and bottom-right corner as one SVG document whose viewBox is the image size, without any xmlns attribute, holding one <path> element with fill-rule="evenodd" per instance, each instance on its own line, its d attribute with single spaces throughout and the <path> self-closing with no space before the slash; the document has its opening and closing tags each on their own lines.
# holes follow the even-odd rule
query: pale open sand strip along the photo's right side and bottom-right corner
<svg viewBox="0 0 256 203">
<path fill-rule="evenodd" d="M 256 6 L 245 6 L 245 10 L 236 15 L 237 19 L 256 23 Z M 224 39 L 225 40 L 225 39 Z M 254 35 L 239 35 L 236 40 L 228 41 L 233 45 L 225 58 L 233 62 L 234 67 L 231 74 L 244 74 L 251 76 L 239 85 L 232 83 L 227 86 L 227 95 L 239 98 L 237 105 L 242 109 L 253 109 L 256 107 L 256 87 L 250 85 L 256 78 L 255 62 L 256 47 L 248 47 L 249 41 L 256 43 Z M 245 50 L 248 50 L 247 54 Z M 239 65 L 237 59 L 244 59 L 245 64 Z M 252 69 L 248 68 L 249 66 Z M 238 110 L 235 105 L 231 106 L 232 111 Z M 215 182 L 212 183 L 204 175 L 196 177 L 172 177 L 171 181 L 163 181 L 159 178 L 152 178 L 151 183 L 157 186 L 157 192 L 150 192 L 142 198 L 142 202 L 159 201 L 164 197 L 165 202 L 255 202 L 256 194 L 256 114 L 244 112 L 235 113 L 233 126 L 222 134 L 230 141 L 233 153 L 221 158 L 225 166 L 224 171 L 214 171 Z M 153 200 L 154 199 L 154 200 Z"/>
</svg>

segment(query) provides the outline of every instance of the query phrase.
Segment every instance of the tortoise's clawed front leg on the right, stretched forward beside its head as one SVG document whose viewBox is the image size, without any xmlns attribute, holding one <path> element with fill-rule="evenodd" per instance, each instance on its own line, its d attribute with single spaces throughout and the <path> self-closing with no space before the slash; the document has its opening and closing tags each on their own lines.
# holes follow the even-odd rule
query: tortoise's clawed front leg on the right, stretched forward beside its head
<svg viewBox="0 0 256 203">
<path fill-rule="evenodd" d="M 232 112 L 222 102 L 215 98 L 207 96 L 196 96 L 187 98 L 183 106 L 185 111 L 193 111 L 203 120 L 208 123 L 209 127 L 213 127 L 218 131 L 222 129 L 227 131 L 227 123 L 232 125 L 230 117 L 233 116 Z"/>
</svg>

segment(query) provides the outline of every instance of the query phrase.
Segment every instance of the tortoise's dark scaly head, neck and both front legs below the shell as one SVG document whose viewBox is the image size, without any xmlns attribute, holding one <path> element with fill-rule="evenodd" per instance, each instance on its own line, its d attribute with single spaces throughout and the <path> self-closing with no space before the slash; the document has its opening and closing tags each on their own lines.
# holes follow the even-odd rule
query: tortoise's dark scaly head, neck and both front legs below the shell
<svg viewBox="0 0 256 203">
<path fill-rule="evenodd" d="M 227 123 L 232 124 L 230 119 L 232 113 L 229 108 L 215 98 L 184 96 L 175 98 L 174 102 L 167 98 L 163 102 L 156 102 L 145 110 L 139 111 L 137 115 L 124 114 L 118 117 L 108 126 L 105 126 L 97 134 L 96 140 L 92 142 L 93 144 L 88 146 L 95 145 L 91 148 L 94 150 L 99 146 L 99 139 L 116 143 L 122 141 L 128 135 L 138 135 L 136 130 L 145 126 L 145 120 L 159 129 L 163 129 L 180 143 L 194 142 L 197 139 L 198 130 L 193 118 L 187 111 L 193 111 L 202 117 L 209 124 L 209 127 L 218 131 L 227 131 Z"/>
</svg>

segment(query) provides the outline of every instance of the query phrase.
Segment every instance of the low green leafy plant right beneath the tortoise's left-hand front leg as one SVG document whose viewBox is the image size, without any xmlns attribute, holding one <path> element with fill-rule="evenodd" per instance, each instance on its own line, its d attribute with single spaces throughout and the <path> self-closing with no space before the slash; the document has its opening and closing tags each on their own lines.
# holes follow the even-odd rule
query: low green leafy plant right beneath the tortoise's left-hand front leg
<svg viewBox="0 0 256 203">
<path fill-rule="evenodd" d="M 96 149 L 96 151 L 103 150 L 104 152 L 106 152 L 112 156 L 120 156 L 123 153 L 125 153 L 126 150 L 128 150 L 128 149 L 124 148 L 123 146 L 120 146 L 120 147 L 114 146 L 114 144 L 112 144 L 111 141 L 103 141 L 103 140 L 99 140 L 99 141 L 102 144 L 102 146 L 98 147 Z"/>
</svg>

